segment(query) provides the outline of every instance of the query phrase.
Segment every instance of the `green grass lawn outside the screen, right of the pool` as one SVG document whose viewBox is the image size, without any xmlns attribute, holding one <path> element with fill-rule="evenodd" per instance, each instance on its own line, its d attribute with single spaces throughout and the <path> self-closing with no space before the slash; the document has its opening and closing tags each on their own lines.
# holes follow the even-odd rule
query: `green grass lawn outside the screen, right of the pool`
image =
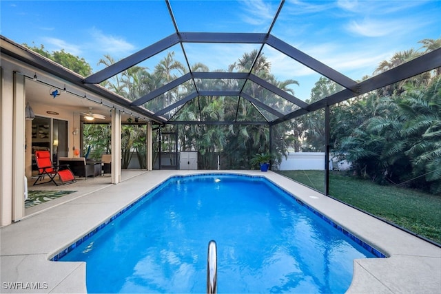
<svg viewBox="0 0 441 294">
<path fill-rule="evenodd" d="M 324 191 L 324 171 L 277 171 Z M 329 174 L 329 195 L 441 244 L 441 196 Z"/>
</svg>

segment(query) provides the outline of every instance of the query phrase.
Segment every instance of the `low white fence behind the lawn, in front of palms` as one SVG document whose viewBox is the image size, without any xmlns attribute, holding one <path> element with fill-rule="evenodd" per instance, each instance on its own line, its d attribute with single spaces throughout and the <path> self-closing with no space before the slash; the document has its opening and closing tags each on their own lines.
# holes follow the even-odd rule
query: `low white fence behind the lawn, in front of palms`
<svg viewBox="0 0 441 294">
<path fill-rule="evenodd" d="M 351 164 L 346 160 L 330 157 L 329 169 L 347 170 L 351 168 Z M 282 158 L 282 162 L 280 162 L 281 171 L 309 169 L 325 169 L 325 152 L 289 152 L 287 159 Z"/>
</svg>

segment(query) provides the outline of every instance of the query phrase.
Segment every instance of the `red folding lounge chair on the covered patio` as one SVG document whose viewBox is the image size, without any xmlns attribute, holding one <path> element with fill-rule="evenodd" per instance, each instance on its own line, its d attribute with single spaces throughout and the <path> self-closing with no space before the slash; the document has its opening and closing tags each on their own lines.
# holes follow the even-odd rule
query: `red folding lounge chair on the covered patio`
<svg viewBox="0 0 441 294">
<path fill-rule="evenodd" d="M 69 168 L 69 165 L 53 165 L 52 160 L 50 159 L 49 151 L 35 151 L 35 162 L 37 163 L 37 167 L 39 169 L 39 176 L 37 180 L 35 180 L 34 185 L 45 184 L 46 182 L 54 182 L 55 185 L 58 186 L 58 183 L 55 182 L 55 176 L 59 176 L 63 185 L 71 184 L 72 182 L 76 182 L 74 174 Z M 44 179 L 45 176 L 48 176 L 50 180 L 46 182 L 39 182 Z"/>
</svg>

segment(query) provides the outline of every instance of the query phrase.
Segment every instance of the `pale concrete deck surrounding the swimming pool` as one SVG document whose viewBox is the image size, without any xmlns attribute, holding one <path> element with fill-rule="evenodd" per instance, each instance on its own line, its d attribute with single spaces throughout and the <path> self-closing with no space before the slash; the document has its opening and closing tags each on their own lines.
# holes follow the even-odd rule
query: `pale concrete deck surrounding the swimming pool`
<svg viewBox="0 0 441 294">
<path fill-rule="evenodd" d="M 0 229 L 0 292 L 86 293 L 85 262 L 49 259 L 170 176 L 217 172 L 265 176 L 389 257 L 354 260 L 347 293 L 441 293 L 438 246 L 271 171 L 143 171 L 119 185 L 100 177 L 94 188 L 78 186 L 76 193 L 26 209 L 23 220 Z"/>
</svg>

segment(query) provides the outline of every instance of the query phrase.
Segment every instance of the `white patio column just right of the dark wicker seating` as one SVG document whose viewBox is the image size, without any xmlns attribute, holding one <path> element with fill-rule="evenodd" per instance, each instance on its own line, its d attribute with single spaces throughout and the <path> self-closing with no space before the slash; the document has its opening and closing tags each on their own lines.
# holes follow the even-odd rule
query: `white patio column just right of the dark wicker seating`
<svg viewBox="0 0 441 294">
<path fill-rule="evenodd" d="M 112 184 L 121 182 L 121 111 L 112 109 Z"/>
</svg>

